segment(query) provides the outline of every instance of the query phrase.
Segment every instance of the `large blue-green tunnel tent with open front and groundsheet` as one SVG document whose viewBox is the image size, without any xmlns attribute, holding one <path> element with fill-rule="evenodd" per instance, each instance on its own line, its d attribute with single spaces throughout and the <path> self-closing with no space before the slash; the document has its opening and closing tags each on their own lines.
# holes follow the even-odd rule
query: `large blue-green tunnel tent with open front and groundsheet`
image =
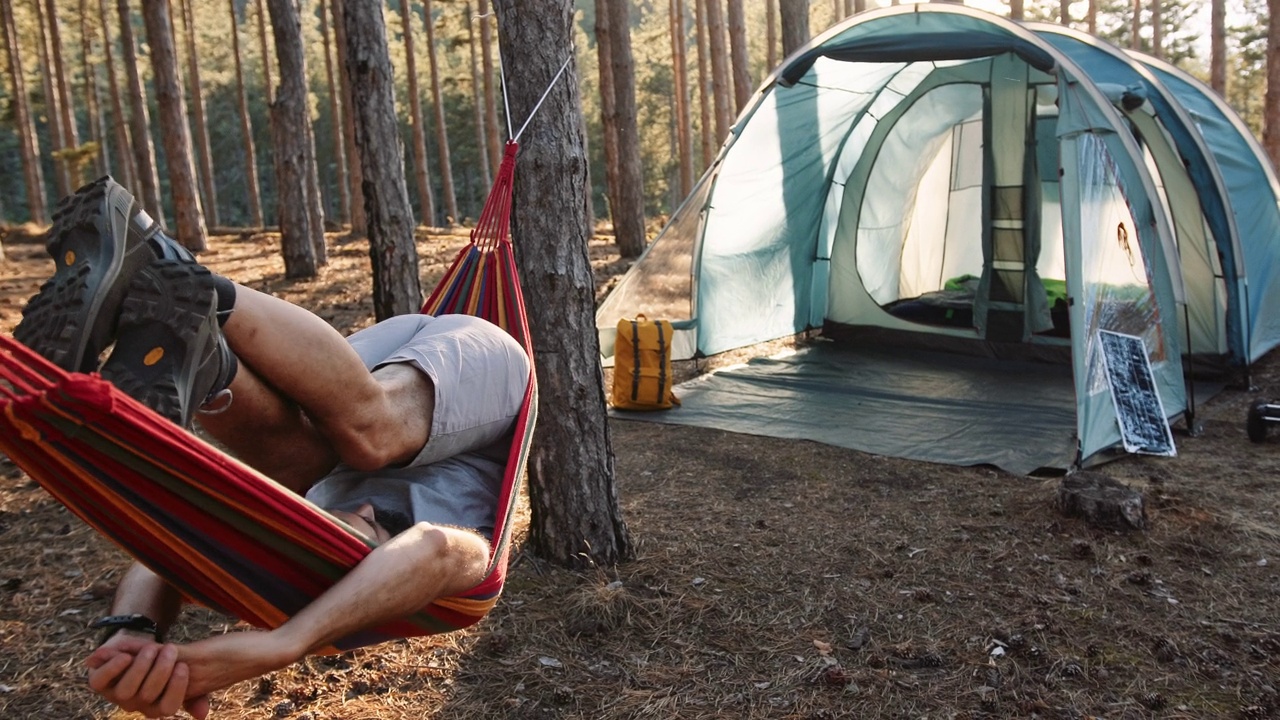
<svg viewBox="0 0 1280 720">
<path fill-rule="evenodd" d="M 1244 173 L 1224 168 L 1268 173 L 1256 143 L 1245 158 L 1208 137 L 1230 126 L 1230 142 L 1249 140 L 1225 106 L 1203 95 L 1192 106 L 1164 77 L 1174 70 L 1137 58 L 1169 87 L 1158 102 L 1185 115 L 1161 115 L 1165 145 L 1140 141 L 1114 105 L 1129 81 L 1094 82 L 1061 37 L 961 5 L 904 5 L 787 59 L 596 325 L 605 359 L 617 320 L 637 314 L 676 323 L 677 359 L 822 338 L 685 383 L 678 409 L 626 416 L 1027 473 L 1133 450 L 1107 333 L 1139 338 L 1164 421 L 1189 410 L 1188 346 L 1228 363 L 1274 346 L 1275 320 L 1244 290 L 1270 287 L 1272 261 L 1254 274 L 1262 233 L 1240 222 L 1245 202 L 1276 208 L 1274 179 L 1242 201 Z M 1156 155 L 1170 147 L 1198 149 L 1202 167 L 1162 174 Z M 1219 205 L 1178 213 L 1179 236 L 1175 192 L 1208 191 Z M 1190 291 L 1179 237 L 1231 249 L 1203 252 Z"/>
</svg>

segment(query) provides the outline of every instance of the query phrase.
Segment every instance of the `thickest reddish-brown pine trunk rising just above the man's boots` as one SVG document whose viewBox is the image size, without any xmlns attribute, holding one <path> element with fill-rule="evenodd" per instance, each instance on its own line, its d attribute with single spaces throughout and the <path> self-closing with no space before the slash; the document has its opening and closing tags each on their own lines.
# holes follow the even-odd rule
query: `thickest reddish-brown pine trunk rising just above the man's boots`
<svg viewBox="0 0 1280 720">
<path fill-rule="evenodd" d="M 160 140 L 164 142 L 169 169 L 169 192 L 178 228 L 178 241 L 193 251 L 205 250 L 209 231 L 196 191 L 196 163 L 191 156 L 191 133 L 187 131 L 187 104 L 182 99 L 178 78 L 178 54 L 173 44 L 173 19 L 169 0 L 142 0 L 142 20 L 151 47 L 151 74 L 156 85 L 156 106 L 160 109 Z"/>
</svg>

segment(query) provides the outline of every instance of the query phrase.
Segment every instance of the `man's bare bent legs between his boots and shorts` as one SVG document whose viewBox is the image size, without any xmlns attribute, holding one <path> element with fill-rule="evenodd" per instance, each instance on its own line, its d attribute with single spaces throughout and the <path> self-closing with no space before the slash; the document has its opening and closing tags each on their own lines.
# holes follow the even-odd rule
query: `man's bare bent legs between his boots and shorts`
<svg viewBox="0 0 1280 720">
<path fill-rule="evenodd" d="M 223 332 L 242 370 L 228 410 L 200 424 L 278 482 L 306 492 L 339 460 L 376 470 L 426 443 L 435 392 L 425 374 L 404 365 L 370 373 L 321 318 L 243 286 Z"/>
</svg>

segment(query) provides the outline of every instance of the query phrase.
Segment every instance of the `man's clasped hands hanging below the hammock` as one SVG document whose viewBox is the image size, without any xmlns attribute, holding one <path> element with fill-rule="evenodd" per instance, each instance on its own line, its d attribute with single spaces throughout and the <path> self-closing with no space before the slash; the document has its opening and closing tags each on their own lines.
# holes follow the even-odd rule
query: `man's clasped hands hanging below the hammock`
<svg viewBox="0 0 1280 720">
<path fill-rule="evenodd" d="M 166 717 L 186 707 L 197 720 L 209 716 L 209 697 L 187 698 L 189 669 L 178 661 L 178 648 L 147 635 L 119 632 L 95 650 L 84 664 L 93 692 L 147 717 Z"/>
</svg>

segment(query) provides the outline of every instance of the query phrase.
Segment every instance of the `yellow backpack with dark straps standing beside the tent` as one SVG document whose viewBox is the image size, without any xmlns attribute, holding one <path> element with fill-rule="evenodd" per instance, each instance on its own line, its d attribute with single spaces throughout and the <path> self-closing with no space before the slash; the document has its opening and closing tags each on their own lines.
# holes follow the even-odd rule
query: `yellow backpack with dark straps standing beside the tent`
<svg viewBox="0 0 1280 720">
<path fill-rule="evenodd" d="M 669 320 L 618 320 L 613 348 L 613 392 L 620 410 L 667 410 L 680 405 L 672 392 Z"/>
</svg>

